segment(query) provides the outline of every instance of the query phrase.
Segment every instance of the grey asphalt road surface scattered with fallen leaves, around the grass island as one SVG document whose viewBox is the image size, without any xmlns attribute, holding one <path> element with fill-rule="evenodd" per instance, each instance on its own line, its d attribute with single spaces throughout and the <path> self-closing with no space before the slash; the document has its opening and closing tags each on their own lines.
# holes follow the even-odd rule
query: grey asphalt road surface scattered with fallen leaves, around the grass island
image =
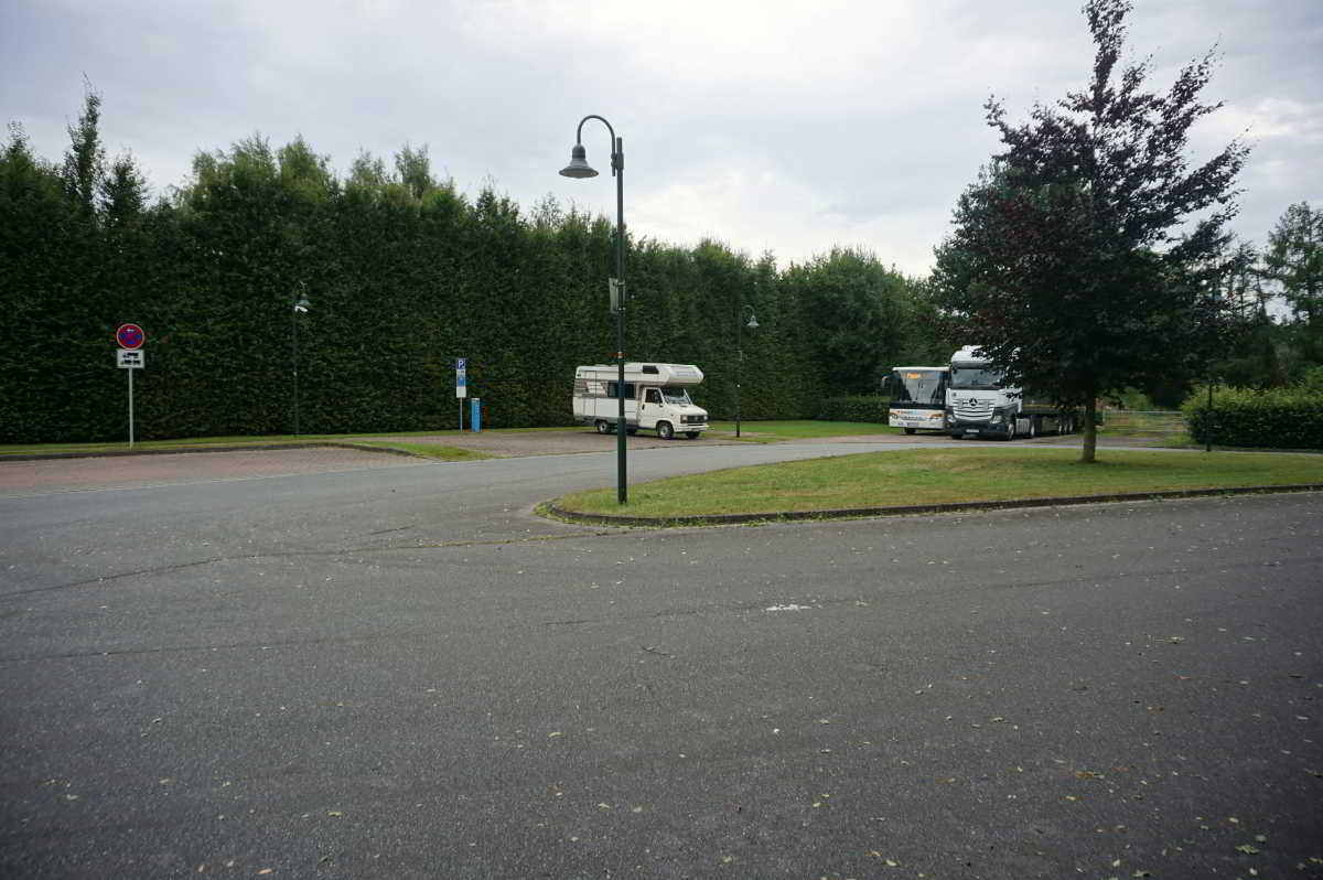
<svg viewBox="0 0 1323 880">
<path fill-rule="evenodd" d="M 532 507 L 610 453 L 316 453 L 0 464 L 0 876 L 1323 876 L 1318 494 L 603 531 Z"/>
</svg>

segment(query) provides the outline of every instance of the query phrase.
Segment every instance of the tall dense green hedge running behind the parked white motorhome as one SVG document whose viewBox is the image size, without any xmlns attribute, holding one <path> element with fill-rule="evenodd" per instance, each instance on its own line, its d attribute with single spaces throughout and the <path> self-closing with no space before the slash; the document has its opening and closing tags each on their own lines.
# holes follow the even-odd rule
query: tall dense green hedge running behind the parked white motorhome
<svg viewBox="0 0 1323 880">
<path fill-rule="evenodd" d="M 79 120 L 83 152 L 95 120 Z M 192 180 L 153 205 L 120 160 L 89 210 L 87 175 L 65 180 L 13 134 L 0 152 L 0 308 L 22 332 L 0 347 L 0 443 L 127 437 L 114 343 L 126 322 L 147 332 L 143 439 L 292 433 L 295 336 L 306 434 L 455 427 L 456 356 L 491 426 L 569 423 L 574 368 L 617 348 L 614 225 L 552 198 L 525 210 L 490 188 L 462 195 L 431 177 L 426 151 L 405 148 L 396 167 L 360 156 L 341 177 L 302 139 L 250 138 L 198 154 Z M 847 286 L 898 333 L 912 292 L 865 254 L 782 273 L 713 241 L 631 238 L 626 274 L 626 357 L 699 364 L 695 397 L 718 417 L 734 413 L 737 385 L 746 418 L 810 417 L 824 393 L 868 385 L 868 364 L 900 353 L 856 328 L 863 373 L 827 369 L 820 339 L 847 344 L 851 316 L 836 308 L 828 327 L 823 304 Z M 737 345 L 750 314 L 758 327 Z"/>
</svg>

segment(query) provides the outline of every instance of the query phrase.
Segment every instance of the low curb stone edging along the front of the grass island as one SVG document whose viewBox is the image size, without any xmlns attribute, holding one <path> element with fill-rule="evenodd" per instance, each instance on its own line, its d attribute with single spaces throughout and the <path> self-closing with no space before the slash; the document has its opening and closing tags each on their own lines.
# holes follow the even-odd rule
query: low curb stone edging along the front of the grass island
<svg viewBox="0 0 1323 880">
<path fill-rule="evenodd" d="M 1155 502 L 1180 498 L 1212 498 L 1217 495 L 1267 495 L 1275 492 L 1319 492 L 1323 483 L 1295 483 L 1286 486 L 1238 486 L 1228 488 L 1189 488 L 1162 492 L 1117 492 L 1107 495 L 1072 495 L 1065 498 L 1024 498 L 1000 502 L 951 502 L 946 504 L 905 504 L 893 507 L 855 507 L 827 511 L 783 511 L 763 513 L 709 513 L 706 516 L 613 516 L 610 513 L 579 513 L 568 511 L 556 499 L 546 512 L 579 525 L 618 525 L 672 528 L 681 525 L 744 525 L 749 523 L 779 523 L 792 520 L 832 520 L 868 516 L 913 516 L 919 513 L 955 513 L 960 511 L 1005 511 L 1033 507 L 1068 507 L 1077 504 L 1105 504 L 1115 502 Z"/>
</svg>

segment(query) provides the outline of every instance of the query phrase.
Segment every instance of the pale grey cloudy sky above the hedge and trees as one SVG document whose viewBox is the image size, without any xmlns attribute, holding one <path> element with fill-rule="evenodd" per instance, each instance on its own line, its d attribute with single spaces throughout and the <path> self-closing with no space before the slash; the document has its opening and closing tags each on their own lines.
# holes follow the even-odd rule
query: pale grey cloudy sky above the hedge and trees
<svg viewBox="0 0 1323 880">
<path fill-rule="evenodd" d="M 0 0 L 0 116 L 58 159 L 103 95 L 108 151 L 156 192 L 192 156 L 303 135 L 347 172 L 426 146 L 439 176 L 525 206 L 546 195 L 614 216 L 603 175 L 569 180 L 578 120 L 624 139 L 626 222 L 782 266 L 861 246 L 923 274 L 951 208 L 998 143 L 990 95 L 1023 119 L 1082 86 L 1080 0 Z M 1130 52 L 1152 87 L 1215 44 L 1225 107 L 1193 157 L 1245 136 L 1236 228 L 1262 242 L 1323 204 L 1323 0 L 1135 0 Z"/>
</svg>

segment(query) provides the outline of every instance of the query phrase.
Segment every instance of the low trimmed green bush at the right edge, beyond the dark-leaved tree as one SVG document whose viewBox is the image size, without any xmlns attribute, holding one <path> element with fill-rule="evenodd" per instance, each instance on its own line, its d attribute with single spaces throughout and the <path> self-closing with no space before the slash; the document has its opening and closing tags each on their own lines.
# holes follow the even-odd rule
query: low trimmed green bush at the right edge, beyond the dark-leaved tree
<svg viewBox="0 0 1323 880">
<path fill-rule="evenodd" d="M 1323 449 L 1323 393 L 1308 384 L 1254 390 L 1196 388 L 1181 405 L 1189 435 L 1218 446 Z"/>
</svg>

